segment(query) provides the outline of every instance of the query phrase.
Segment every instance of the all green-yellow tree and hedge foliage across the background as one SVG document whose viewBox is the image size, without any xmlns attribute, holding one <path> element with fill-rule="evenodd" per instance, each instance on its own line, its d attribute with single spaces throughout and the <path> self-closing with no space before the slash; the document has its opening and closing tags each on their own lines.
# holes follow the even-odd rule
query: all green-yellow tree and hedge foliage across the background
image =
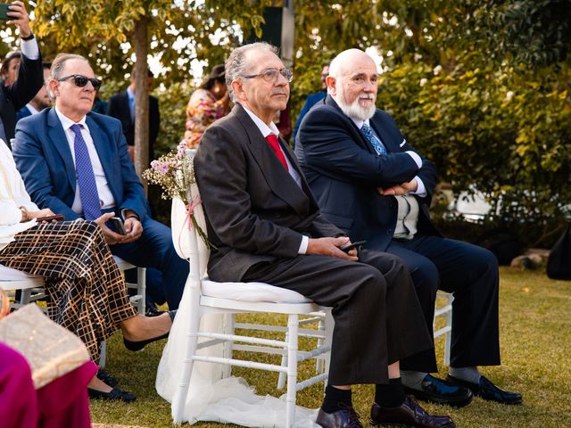
<svg viewBox="0 0 571 428">
<path fill-rule="evenodd" d="M 103 98 L 127 86 L 135 22 L 149 22 L 149 54 L 162 67 L 158 152 L 178 143 L 191 65 L 223 62 L 261 36 L 269 0 L 37 0 L 34 31 L 46 57 L 92 59 Z M 34 4 L 30 4 L 34 9 Z M 571 202 L 571 0 L 298 0 L 292 119 L 319 88 L 321 64 L 349 47 L 377 48 L 377 98 L 451 189 L 492 203 L 486 222 L 545 243 Z M 0 45 L 5 52 L 8 45 Z M 159 153 L 160 154 L 160 153 Z"/>
</svg>

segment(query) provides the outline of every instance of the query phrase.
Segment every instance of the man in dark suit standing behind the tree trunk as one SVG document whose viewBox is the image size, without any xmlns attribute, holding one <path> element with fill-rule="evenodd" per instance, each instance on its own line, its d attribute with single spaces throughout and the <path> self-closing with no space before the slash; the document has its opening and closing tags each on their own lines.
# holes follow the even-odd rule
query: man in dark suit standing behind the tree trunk
<svg viewBox="0 0 571 428">
<path fill-rule="evenodd" d="M 148 70 L 147 86 L 149 91 L 153 89 L 153 81 L 153 72 Z M 107 109 L 109 116 L 120 119 L 121 121 L 131 159 L 135 157 L 135 98 L 135 67 L 133 67 L 133 71 L 131 72 L 131 84 L 126 91 L 111 97 Z M 154 143 L 159 135 L 159 128 L 161 128 L 159 100 L 153 95 L 149 95 L 149 161 L 153 161 L 154 159 Z"/>
</svg>

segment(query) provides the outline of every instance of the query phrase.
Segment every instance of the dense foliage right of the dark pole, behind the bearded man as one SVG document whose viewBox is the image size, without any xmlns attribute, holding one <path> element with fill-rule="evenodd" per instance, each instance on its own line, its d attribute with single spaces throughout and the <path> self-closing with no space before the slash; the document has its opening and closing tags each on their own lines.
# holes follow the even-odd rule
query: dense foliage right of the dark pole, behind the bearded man
<svg viewBox="0 0 571 428">
<path fill-rule="evenodd" d="M 296 78 L 319 76 L 319 58 L 377 46 L 377 103 L 442 180 L 483 192 L 494 220 L 547 233 L 562 218 L 571 202 L 569 0 L 315 3 L 296 10 Z M 309 81 L 295 85 L 308 93 Z"/>
</svg>

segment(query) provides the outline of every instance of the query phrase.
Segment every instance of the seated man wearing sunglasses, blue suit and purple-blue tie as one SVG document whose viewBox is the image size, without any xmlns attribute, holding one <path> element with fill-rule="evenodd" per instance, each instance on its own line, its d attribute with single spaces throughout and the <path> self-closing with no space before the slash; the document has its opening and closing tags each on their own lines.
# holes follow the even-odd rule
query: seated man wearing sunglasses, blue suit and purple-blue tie
<svg viewBox="0 0 571 428">
<path fill-rule="evenodd" d="M 170 228 L 147 214 L 120 121 L 91 111 L 101 83 L 85 58 L 59 54 L 47 82 L 54 108 L 18 122 L 17 167 L 37 205 L 66 220 L 96 221 L 113 254 L 159 269 L 169 307 L 177 309 L 188 263 L 174 250 Z M 107 223 L 113 216 L 123 219 L 124 235 Z"/>
</svg>

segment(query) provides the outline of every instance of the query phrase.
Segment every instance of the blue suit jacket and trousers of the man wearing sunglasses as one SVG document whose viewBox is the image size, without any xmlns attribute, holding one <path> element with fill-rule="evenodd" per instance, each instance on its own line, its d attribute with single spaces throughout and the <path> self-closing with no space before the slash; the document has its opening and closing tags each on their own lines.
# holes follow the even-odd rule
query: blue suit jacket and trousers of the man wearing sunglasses
<svg viewBox="0 0 571 428">
<path fill-rule="evenodd" d="M 116 203 L 115 212 L 135 211 L 144 228 L 134 243 L 112 245 L 112 253 L 134 265 L 161 270 L 170 309 L 177 309 L 188 264 L 178 258 L 170 228 L 147 215 L 143 185 L 128 156 L 120 121 L 90 112 L 86 124 Z M 75 165 L 54 109 L 18 122 L 12 152 L 32 201 L 40 208 L 63 214 L 66 220 L 79 218 L 71 210 L 76 191 Z"/>
</svg>

